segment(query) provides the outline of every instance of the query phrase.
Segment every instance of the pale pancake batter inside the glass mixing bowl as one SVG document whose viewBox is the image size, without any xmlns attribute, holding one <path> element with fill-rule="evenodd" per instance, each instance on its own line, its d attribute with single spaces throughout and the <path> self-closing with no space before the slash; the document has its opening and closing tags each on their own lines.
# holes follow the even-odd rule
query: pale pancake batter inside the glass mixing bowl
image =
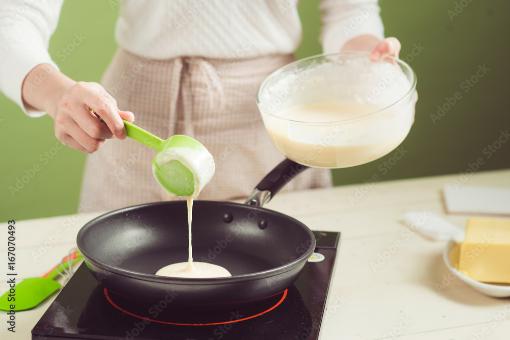
<svg viewBox="0 0 510 340">
<path fill-rule="evenodd" d="M 346 168 L 374 161 L 395 149 L 409 133 L 412 108 L 359 122 L 330 126 L 328 122 L 361 119 L 380 109 L 347 101 L 317 102 L 283 110 L 277 114 L 282 119 L 267 117 L 266 127 L 273 144 L 287 158 L 311 167 Z"/>
</svg>

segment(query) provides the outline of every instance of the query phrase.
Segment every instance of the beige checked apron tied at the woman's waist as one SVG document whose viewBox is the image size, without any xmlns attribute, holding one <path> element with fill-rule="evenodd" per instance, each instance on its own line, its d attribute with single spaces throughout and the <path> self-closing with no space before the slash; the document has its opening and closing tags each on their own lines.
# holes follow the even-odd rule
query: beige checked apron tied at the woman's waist
<svg viewBox="0 0 510 340">
<path fill-rule="evenodd" d="M 135 114 L 136 125 L 163 139 L 191 136 L 211 152 L 216 171 L 198 199 L 246 198 L 284 159 L 269 140 L 257 90 L 272 71 L 292 61 L 292 55 L 152 60 L 119 49 L 102 85 L 119 109 Z M 152 175 L 156 153 L 129 138 L 107 140 L 87 158 L 81 206 L 101 211 L 171 200 Z M 308 169 L 283 190 L 330 185 L 328 169 Z"/>
</svg>

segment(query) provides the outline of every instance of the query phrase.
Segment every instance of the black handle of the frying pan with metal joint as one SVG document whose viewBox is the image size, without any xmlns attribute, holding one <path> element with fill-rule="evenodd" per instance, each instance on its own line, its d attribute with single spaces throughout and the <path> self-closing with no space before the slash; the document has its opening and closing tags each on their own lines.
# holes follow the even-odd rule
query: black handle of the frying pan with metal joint
<svg viewBox="0 0 510 340">
<path fill-rule="evenodd" d="M 245 204 L 254 206 L 264 205 L 269 202 L 289 180 L 296 177 L 305 169 L 308 169 L 308 167 L 286 158 L 260 181 Z"/>
</svg>

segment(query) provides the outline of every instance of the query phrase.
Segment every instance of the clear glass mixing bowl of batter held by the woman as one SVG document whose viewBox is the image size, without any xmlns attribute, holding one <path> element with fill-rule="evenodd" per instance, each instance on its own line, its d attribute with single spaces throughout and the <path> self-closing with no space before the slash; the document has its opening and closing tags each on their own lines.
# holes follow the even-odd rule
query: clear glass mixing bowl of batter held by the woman
<svg viewBox="0 0 510 340">
<path fill-rule="evenodd" d="M 273 73 L 257 106 L 274 146 L 311 167 L 346 168 L 395 149 L 414 121 L 416 75 L 403 61 L 353 51 L 298 60 Z"/>
</svg>

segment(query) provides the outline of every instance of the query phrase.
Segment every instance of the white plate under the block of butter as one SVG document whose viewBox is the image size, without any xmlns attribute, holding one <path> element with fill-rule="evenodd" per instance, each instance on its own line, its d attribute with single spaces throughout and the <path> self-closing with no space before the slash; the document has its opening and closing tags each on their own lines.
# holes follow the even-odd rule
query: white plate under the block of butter
<svg viewBox="0 0 510 340">
<path fill-rule="evenodd" d="M 493 296 L 496 298 L 506 298 L 510 296 L 510 285 L 483 283 L 473 280 L 472 278 L 458 271 L 455 268 L 455 266 L 458 264 L 458 252 L 458 243 L 453 240 L 448 242 L 446 248 L 443 250 L 443 261 L 450 272 L 469 284 L 471 287 L 473 287 L 473 289 L 485 295 Z"/>
</svg>

